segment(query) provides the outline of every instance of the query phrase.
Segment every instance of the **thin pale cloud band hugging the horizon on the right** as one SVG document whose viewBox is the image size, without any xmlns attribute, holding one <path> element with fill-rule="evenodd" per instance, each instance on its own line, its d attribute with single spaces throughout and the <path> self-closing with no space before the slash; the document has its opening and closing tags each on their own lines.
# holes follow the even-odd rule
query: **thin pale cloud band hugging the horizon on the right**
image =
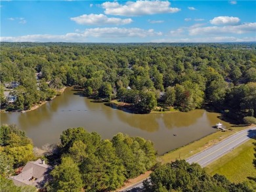
<svg viewBox="0 0 256 192">
<path fill-rule="evenodd" d="M 256 41 L 255 37 L 197 37 L 181 39 L 155 39 L 152 43 L 219 43 L 219 42 L 251 42 Z"/>
</svg>

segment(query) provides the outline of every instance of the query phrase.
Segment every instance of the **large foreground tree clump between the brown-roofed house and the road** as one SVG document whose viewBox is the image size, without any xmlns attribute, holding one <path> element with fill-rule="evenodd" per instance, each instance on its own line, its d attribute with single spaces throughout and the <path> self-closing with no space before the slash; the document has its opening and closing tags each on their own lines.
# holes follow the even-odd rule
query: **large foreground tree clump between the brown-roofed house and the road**
<svg viewBox="0 0 256 192">
<path fill-rule="evenodd" d="M 74 191 L 81 187 L 112 191 L 156 164 L 152 142 L 139 137 L 119 133 L 112 140 L 102 140 L 96 132 L 78 127 L 64 130 L 60 141 L 62 159 L 51 173 L 54 179 L 49 185 L 53 191 L 65 191 L 68 186 Z"/>
</svg>

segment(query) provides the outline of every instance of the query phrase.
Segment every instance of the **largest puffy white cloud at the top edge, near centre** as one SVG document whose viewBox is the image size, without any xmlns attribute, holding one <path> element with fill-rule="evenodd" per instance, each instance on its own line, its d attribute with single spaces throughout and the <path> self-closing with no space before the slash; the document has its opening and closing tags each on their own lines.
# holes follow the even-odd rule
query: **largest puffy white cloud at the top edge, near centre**
<svg viewBox="0 0 256 192">
<path fill-rule="evenodd" d="M 121 16 L 141 16 L 147 14 L 161 14 L 178 12 L 181 9 L 169 7 L 169 1 L 127 1 L 125 5 L 118 2 L 105 2 L 102 7 L 105 14 Z"/>
</svg>

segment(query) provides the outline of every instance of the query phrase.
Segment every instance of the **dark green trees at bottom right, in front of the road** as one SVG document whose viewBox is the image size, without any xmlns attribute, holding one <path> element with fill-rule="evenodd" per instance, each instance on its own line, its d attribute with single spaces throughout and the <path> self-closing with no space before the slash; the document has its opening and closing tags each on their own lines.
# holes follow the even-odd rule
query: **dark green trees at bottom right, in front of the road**
<svg viewBox="0 0 256 192">
<path fill-rule="evenodd" d="M 153 191 L 247 191 L 252 189 L 245 183 L 231 183 L 224 176 L 209 176 L 199 164 L 189 164 L 184 160 L 159 165 L 152 174 L 150 182 L 143 182 L 145 190 Z"/>
</svg>

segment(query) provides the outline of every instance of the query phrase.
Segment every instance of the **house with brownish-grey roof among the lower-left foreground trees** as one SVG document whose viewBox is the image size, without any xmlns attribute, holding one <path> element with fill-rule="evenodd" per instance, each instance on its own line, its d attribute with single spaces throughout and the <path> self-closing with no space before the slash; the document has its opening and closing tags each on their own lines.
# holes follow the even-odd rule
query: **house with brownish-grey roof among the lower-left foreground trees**
<svg viewBox="0 0 256 192">
<path fill-rule="evenodd" d="M 37 189 L 43 188 L 47 180 L 49 180 L 49 172 L 52 167 L 45 164 L 45 161 L 37 159 L 37 161 L 28 162 L 22 172 L 18 176 L 11 176 L 14 185 L 32 185 Z"/>
</svg>

